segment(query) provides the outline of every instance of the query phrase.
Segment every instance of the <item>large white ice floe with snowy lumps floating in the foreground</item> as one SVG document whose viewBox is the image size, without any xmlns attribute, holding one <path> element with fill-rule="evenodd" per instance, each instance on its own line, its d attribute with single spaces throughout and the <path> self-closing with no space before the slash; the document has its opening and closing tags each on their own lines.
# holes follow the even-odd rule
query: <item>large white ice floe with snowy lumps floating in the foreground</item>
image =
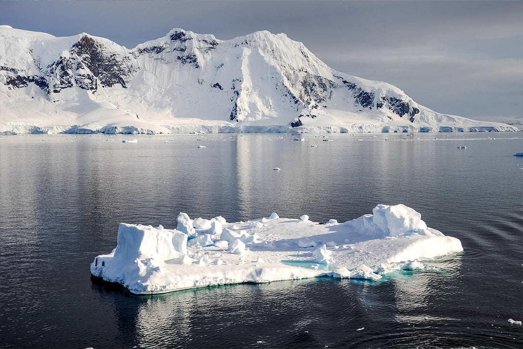
<svg viewBox="0 0 523 349">
<path fill-rule="evenodd" d="M 378 205 L 372 212 L 325 224 L 276 213 L 236 223 L 180 213 L 174 230 L 120 223 L 116 249 L 95 257 L 90 271 L 133 294 L 158 294 L 316 276 L 377 280 L 463 251 L 458 239 L 428 228 L 410 207 Z"/>
</svg>

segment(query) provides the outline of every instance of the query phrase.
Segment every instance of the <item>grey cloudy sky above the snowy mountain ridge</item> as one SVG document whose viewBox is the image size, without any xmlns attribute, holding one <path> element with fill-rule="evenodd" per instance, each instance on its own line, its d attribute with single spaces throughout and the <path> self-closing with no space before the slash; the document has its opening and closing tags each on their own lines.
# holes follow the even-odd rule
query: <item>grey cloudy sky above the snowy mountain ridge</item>
<svg viewBox="0 0 523 349">
<path fill-rule="evenodd" d="M 437 112 L 523 117 L 523 1 L 0 0 L 0 25 L 127 48 L 173 28 L 221 40 L 284 32 L 332 68 Z"/>
</svg>

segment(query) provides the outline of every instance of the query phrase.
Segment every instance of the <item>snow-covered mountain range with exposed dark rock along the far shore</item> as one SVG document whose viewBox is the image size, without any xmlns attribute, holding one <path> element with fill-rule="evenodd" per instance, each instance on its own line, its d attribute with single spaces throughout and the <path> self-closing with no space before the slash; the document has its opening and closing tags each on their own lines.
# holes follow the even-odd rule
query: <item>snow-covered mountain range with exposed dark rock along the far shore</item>
<svg viewBox="0 0 523 349">
<path fill-rule="evenodd" d="M 258 31 L 173 29 L 133 49 L 0 26 L 0 132 L 517 131 L 438 114 Z"/>
</svg>

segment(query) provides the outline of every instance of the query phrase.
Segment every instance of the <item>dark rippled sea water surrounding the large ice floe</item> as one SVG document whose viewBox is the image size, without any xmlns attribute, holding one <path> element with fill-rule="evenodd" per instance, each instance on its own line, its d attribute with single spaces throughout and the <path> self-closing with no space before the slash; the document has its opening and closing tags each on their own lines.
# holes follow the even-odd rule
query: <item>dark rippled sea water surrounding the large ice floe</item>
<svg viewBox="0 0 523 349">
<path fill-rule="evenodd" d="M 0 347 L 523 345 L 523 328 L 508 322 L 523 320 L 521 132 L 295 137 L 306 140 L 0 138 Z M 116 246 L 119 222 L 175 228 L 180 211 L 343 222 L 399 203 L 459 238 L 464 253 L 434 261 L 439 272 L 381 282 L 135 296 L 90 278 L 93 258 Z"/>
</svg>

